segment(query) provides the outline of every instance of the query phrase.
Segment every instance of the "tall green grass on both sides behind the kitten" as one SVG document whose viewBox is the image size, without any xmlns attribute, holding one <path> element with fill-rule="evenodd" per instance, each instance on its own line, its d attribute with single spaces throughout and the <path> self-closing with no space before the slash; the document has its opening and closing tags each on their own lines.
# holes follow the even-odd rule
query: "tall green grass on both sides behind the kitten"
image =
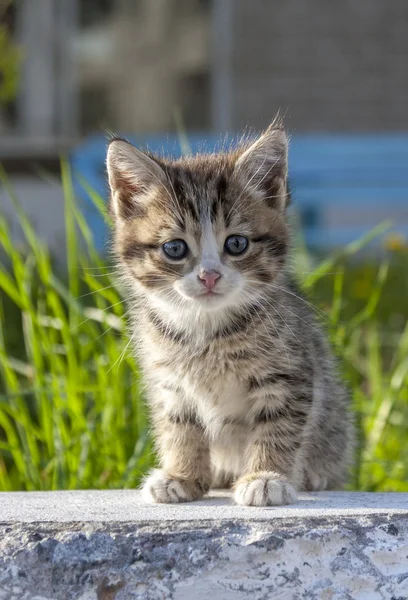
<svg viewBox="0 0 408 600">
<path fill-rule="evenodd" d="M 134 487 L 154 460 L 143 390 L 123 298 L 112 266 L 94 250 L 69 167 L 62 163 L 63 273 L 3 171 L 0 179 L 26 240 L 16 247 L 0 215 L 0 490 Z M 92 198 L 103 210 L 103 200 L 94 192 Z M 294 264 L 326 315 L 352 390 L 358 447 L 351 486 L 402 491 L 408 490 L 408 253 L 401 247 L 380 262 L 356 260 L 368 241 L 323 261 L 299 245 Z"/>
</svg>

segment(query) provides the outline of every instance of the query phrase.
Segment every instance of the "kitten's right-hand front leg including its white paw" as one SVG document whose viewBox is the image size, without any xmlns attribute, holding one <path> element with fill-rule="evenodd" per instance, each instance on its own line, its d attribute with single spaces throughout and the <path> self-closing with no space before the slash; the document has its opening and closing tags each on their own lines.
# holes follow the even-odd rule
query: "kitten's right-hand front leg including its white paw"
<svg viewBox="0 0 408 600">
<path fill-rule="evenodd" d="M 263 410 L 255 419 L 246 450 L 244 474 L 234 485 L 235 502 L 278 506 L 296 501 L 294 470 L 301 452 L 301 428 L 293 417 Z M 300 470 L 299 470 L 300 472 Z"/>
</svg>

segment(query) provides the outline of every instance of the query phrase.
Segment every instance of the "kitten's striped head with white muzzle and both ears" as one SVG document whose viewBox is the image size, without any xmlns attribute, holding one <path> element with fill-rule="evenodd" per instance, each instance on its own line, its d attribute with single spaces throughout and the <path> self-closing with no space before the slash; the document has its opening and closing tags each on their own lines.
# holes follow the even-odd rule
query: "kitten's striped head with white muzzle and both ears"
<svg viewBox="0 0 408 600">
<path fill-rule="evenodd" d="M 237 151 L 167 161 L 108 149 L 115 251 L 139 292 L 185 310 L 251 302 L 288 245 L 287 138 L 275 122 Z"/>
</svg>

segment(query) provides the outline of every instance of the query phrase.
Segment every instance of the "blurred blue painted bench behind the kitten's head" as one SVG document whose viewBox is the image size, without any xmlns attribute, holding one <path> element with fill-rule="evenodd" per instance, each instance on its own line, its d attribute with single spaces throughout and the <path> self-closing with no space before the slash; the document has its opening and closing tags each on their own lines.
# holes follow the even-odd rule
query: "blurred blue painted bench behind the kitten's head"
<svg viewBox="0 0 408 600">
<path fill-rule="evenodd" d="M 181 154 L 176 135 L 128 139 L 159 154 Z M 193 153 L 222 145 L 205 134 L 189 135 L 188 142 Z M 107 196 L 105 152 L 106 139 L 94 136 L 71 155 L 76 194 L 99 248 L 105 243 L 105 226 L 81 181 Z M 408 238 L 408 134 L 293 136 L 289 164 L 293 207 L 310 248 L 343 246 L 386 218 L 394 221 L 393 231 Z"/>
</svg>

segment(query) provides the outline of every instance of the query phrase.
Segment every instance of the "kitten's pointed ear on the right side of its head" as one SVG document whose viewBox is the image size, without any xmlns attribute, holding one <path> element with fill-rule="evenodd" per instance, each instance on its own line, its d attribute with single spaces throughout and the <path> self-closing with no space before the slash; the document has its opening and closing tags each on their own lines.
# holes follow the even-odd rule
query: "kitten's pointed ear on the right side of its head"
<svg viewBox="0 0 408 600">
<path fill-rule="evenodd" d="M 271 208 L 284 210 L 288 204 L 288 139 L 282 121 L 275 121 L 239 157 L 235 171 L 248 189 L 265 194 Z"/>
</svg>

